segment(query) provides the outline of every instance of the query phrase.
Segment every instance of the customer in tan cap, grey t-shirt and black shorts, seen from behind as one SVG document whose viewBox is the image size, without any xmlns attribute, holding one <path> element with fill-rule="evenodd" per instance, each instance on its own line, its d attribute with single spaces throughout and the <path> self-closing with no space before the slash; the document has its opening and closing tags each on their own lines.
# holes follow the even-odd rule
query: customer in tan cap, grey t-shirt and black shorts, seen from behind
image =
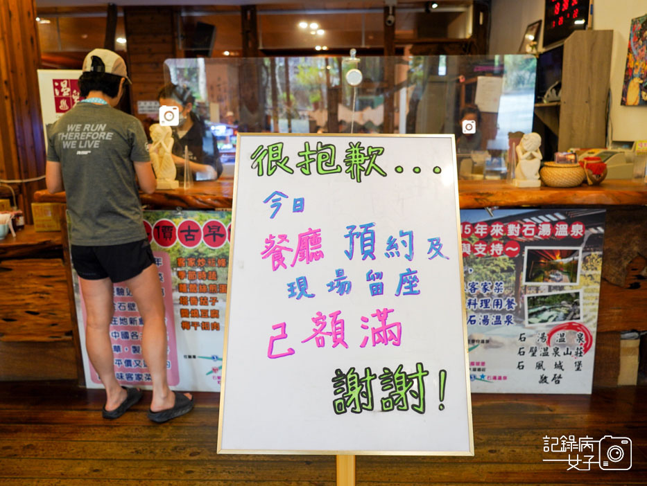
<svg viewBox="0 0 647 486">
<path fill-rule="evenodd" d="M 121 387 L 114 375 L 112 284 L 123 282 L 144 321 L 141 350 L 153 382 L 148 418 L 166 422 L 191 411 L 193 397 L 171 392 L 166 377 L 162 287 L 135 176 L 149 194 L 156 181 L 144 128 L 114 108 L 126 82 L 126 63 L 117 53 L 94 49 L 85 57 L 78 83 L 87 98 L 49 130 L 45 179 L 49 192 L 66 192 L 71 260 L 87 312 L 85 346 L 107 395 L 103 417 L 121 417 L 142 397 L 137 388 Z"/>
</svg>

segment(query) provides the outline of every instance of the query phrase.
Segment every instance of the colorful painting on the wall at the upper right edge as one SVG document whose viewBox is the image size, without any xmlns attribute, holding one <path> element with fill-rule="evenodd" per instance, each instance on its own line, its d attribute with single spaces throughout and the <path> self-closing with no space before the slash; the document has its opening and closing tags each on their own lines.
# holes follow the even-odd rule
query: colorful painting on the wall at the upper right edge
<svg viewBox="0 0 647 486">
<path fill-rule="evenodd" d="M 621 105 L 647 105 L 647 15 L 631 19 Z"/>
</svg>

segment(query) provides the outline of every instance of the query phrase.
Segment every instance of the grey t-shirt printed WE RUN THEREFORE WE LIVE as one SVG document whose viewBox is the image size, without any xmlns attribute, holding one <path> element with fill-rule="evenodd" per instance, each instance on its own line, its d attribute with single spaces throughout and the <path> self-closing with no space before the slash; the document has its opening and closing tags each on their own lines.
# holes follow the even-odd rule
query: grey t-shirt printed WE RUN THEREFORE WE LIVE
<svg viewBox="0 0 647 486">
<path fill-rule="evenodd" d="M 48 132 L 47 160 L 61 163 L 70 241 L 105 246 L 146 238 L 133 161 L 150 161 L 134 116 L 80 102 Z"/>
</svg>

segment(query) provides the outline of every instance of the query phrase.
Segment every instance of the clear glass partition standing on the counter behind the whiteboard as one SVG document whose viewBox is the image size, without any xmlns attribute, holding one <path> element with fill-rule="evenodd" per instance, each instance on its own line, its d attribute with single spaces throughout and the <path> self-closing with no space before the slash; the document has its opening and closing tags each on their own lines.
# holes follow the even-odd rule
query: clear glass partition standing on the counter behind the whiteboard
<svg viewBox="0 0 647 486">
<path fill-rule="evenodd" d="M 192 96 L 204 152 L 225 173 L 237 132 L 413 133 L 455 134 L 460 177 L 498 179 L 532 131 L 535 66 L 531 55 L 169 59 L 164 80 Z"/>
</svg>

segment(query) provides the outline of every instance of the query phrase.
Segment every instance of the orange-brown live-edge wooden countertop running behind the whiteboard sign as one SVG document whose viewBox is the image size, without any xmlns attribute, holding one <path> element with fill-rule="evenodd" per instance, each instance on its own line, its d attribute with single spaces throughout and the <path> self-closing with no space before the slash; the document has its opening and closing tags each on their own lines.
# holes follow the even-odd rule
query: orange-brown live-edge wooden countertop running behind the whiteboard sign
<svg viewBox="0 0 647 486">
<path fill-rule="evenodd" d="M 196 182 L 189 190 L 176 189 L 141 194 L 141 204 L 155 208 L 231 208 L 234 179 Z M 517 188 L 506 181 L 459 181 L 460 208 L 519 206 L 644 206 L 647 185 L 635 181 L 607 179 L 599 186 L 576 188 Z M 65 193 L 40 190 L 37 202 L 65 202 Z"/>
</svg>

